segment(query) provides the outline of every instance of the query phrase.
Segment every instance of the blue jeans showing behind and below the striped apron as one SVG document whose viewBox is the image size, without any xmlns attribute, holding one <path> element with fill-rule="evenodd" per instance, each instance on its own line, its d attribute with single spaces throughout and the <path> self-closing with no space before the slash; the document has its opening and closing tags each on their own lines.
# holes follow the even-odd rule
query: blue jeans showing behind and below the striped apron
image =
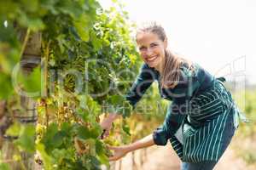
<svg viewBox="0 0 256 170">
<path fill-rule="evenodd" d="M 233 122 L 233 114 L 230 114 L 227 119 L 226 127 L 224 129 L 225 135 L 224 135 L 223 150 L 227 149 L 232 137 L 234 136 L 235 131 L 236 131 L 236 127 L 234 126 L 234 122 Z M 215 165 L 217 164 L 217 162 L 218 161 L 202 161 L 198 163 L 193 163 L 193 162 L 183 161 L 181 165 L 181 170 L 212 170 L 213 167 L 215 167 Z"/>
</svg>

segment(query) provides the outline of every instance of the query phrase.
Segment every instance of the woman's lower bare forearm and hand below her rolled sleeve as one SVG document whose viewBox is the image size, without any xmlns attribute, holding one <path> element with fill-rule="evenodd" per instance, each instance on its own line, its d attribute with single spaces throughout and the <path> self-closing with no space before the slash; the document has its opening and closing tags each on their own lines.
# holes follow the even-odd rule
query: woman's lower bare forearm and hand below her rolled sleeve
<svg viewBox="0 0 256 170">
<path fill-rule="evenodd" d="M 144 137 L 143 139 L 140 139 L 132 144 L 127 144 L 124 146 L 108 146 L 110 150 L 114 151 L 113 156 L 109 157 L 109 161 L 117 161 L 121 157 L 125 156 L 127 153 L 133 151 L 142 149 L 148 146 L 154 145 L 154 139 L 153 134 L 149 134 L 148 136 Z"/>
</svg>

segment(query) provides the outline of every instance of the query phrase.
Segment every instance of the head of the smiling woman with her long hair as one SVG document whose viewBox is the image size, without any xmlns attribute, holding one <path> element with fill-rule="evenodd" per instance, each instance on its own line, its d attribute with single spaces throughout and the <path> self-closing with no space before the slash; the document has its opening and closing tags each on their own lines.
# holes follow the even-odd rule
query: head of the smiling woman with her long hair
<svg viewBox="0 0 256 170">
<path fill-rule="evenodd" d="M 145 23 L 137 30 L 137 46 L 143 61 L 162 75 L 161 87 L 174 88 L 180 77 L 182 63 L 192 66 L 167 48 L 166 31 L 154 22 Z"/>
</svg>

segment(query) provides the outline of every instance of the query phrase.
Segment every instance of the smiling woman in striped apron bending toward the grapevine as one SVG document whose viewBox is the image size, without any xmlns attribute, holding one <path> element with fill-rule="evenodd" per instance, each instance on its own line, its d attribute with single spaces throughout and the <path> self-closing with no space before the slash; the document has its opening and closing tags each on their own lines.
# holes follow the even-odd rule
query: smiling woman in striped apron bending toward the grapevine
<svg viewBox="0 0 256 170">
<path fill-rule="evenodd" d="M 172 54 L 164 29 L 156 23 L 140 28 L 136 38 L 144 63 L 126 99 L 135 106 L 157 81 L 160 95 L 172 100 L 172 105 L 154 133 L 133 144 L 109 146 L 114 150 L 109 160 L 153 144 L 166 145 L 170 140 L 182 160 L 182 170 L 212 169 L 230 144 L 241 114 L 224 87 L 224 78 L 215 78 L 200 65 Z M 117 117 L 110 114 L 103 120 L 104 137 Z"/>
</svg>

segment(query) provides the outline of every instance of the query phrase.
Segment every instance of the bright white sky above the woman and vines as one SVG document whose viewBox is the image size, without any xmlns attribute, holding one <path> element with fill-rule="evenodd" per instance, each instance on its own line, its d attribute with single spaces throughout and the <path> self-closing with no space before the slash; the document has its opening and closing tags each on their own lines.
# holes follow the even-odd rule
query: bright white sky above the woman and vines
<svg viewBox="0 0 256 170">
<path fill-rule="evenodd" d="M 111 0 L 99 2 L 103 8 L 112 6 Z M 172 51 L 199 63 L 216 77 L 234 80 L 235 75 L 246 75 L 248 82 L 256 83 L 255 0 L 121 2 L 137 24 L 148 20 L 160 22 Z"/>
</svg>

